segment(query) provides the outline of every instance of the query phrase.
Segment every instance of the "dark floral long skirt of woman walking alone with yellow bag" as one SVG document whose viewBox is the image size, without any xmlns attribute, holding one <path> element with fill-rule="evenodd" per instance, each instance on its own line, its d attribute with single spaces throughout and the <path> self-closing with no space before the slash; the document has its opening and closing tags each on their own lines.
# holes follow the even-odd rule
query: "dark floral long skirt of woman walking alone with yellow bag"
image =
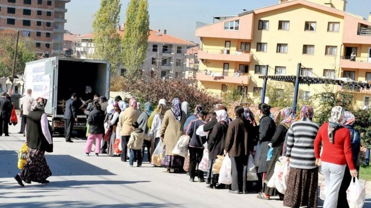
<svg viewBox="0 0 371 208">
<path fill-rule="evenodd" d="M 45 160 L 45 151 L 28 148 L 27 163 L 22 168 L 22 180 L 27 184 L 42 182 L 52 175 Z"/>
</svg>

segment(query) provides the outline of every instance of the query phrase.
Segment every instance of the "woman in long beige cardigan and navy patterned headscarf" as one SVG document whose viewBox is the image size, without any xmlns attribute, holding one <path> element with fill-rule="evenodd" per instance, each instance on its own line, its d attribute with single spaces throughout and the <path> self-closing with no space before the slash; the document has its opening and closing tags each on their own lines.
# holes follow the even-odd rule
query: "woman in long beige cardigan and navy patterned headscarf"
<svg viewBox="0 0 371 208">
<path fill-rule="evenodd" d="M 166 111 L 162 121 L 160 138 L 163 140 L 163 156 L 161 165 L 166 167 L 166 172 L 170 173 L 171 168 L 174 172 L 179 172 L 182 168 L 182 157 L 171 154 L 179 137 L 184 134 L 185 112 L 181 110 L 179 98 L 174 98 L 171 109 Z"/>
</svg>

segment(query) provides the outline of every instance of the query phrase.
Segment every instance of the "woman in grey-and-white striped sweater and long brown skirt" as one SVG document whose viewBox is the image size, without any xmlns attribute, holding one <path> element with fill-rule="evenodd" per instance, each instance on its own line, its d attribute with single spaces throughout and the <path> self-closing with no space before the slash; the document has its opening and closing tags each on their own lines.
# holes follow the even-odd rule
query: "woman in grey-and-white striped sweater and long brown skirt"
<svg viewBox="0 0 371 208">
<path fill-rule="evenodd" d="M 312 122 L 313 108 L 303 106 L 300 120 L 287 133 L 286 157 L 290 165 L 283 199 L 285 207 L 317 207 L 318 167 L 313 143 L 319 126 Z"/>
</svg>

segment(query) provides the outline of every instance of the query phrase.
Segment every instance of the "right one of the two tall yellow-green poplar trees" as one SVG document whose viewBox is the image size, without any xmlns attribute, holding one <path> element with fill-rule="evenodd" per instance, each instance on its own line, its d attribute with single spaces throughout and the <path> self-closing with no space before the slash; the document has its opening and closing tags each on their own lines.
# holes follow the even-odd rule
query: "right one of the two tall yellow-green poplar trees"
<svg viewBox="0 0 371 208">
<path fill-rule="evenodd" d="M 122 62 L 128 75 L 138 77 L 143 63 L 150 35 L 150 15 L 147 0 L 131 0 L 126 11 L 126 23 L 122 38 Z"/>
</svg>

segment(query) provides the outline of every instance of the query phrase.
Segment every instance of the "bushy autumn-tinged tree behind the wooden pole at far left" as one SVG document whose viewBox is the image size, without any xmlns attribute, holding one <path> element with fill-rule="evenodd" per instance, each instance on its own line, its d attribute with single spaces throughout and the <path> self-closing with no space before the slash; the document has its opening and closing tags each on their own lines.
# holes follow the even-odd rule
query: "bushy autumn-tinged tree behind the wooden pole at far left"
<svg viewBox="0 0 371 208">
<path fill-rule="evenodd" d="M 14 50 L 16 46 L 17 33 L 14 30 L 0 31 L 0 77 L 12 75 Z M 33 41 L 20 34 L 16 59 L 16 74 L 22 74 L 26 62 L 37 59 L 36 48 Z"/>
</svg>

